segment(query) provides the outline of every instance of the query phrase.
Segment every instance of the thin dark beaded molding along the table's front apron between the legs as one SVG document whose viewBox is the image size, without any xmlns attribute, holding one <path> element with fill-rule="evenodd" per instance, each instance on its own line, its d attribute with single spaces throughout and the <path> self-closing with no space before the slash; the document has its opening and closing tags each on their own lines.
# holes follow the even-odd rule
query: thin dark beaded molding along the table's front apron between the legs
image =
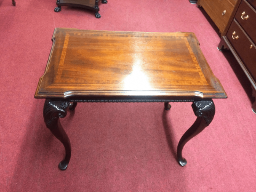
<svg viewBox="0 0 256 192">
<path fill-rule="evenodd" d="M 70 102 L 104 102 L 104 103 L 147 103 L 147 102 L 194 102 L 194 100 L 166 100 L 166 99 L 130 99 L 130 100 L 86 100 L 86 99 L 72 99 Z"/>
</svg>

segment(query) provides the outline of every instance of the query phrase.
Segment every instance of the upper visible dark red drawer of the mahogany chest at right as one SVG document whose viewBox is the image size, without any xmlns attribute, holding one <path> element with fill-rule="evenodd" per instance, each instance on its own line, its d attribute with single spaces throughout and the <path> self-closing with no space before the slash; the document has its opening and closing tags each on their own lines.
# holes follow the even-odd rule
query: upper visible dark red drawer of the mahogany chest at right
<svg viewBox="0 0 256 192">
<path fill-rule="evenodd" d="M 245 12 L 244 15 L 242 15 L 243 12 Z M 246 19 L 247 16 L 248 18 Z M 242 0 L 234 18 L 246 31 L 250 39 L 256 43 L 256 11 L 253 7 L 247 1 Z"/>
</svg>

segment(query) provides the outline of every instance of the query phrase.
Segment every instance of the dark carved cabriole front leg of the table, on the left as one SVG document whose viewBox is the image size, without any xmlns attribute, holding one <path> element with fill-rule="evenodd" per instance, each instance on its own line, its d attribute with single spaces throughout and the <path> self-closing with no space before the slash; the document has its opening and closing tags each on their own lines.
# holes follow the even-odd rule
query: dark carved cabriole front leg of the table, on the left
<svg viewBox="0 0 256 192">
<path fill-rule="evenodd" d="M 62 128 L 59 119 L 65 118 L 66 110 L 69 105 L 70 102 L 54 101 L 50 100 L 49 98 L 47 98 L 46 102 L 44 103 L 44 122 L 52 134 L 54 134 L 54 136 L 58 138 L 58 140 L 60 140 L 65 147 L 65 159 L 58 164 L 58 168 L 61 170 L 65 170 L 68 167 L 71 157 L 70 139 L 68 138 L 68 135 L 66 135 L 65 130 Z"/>
</svg>

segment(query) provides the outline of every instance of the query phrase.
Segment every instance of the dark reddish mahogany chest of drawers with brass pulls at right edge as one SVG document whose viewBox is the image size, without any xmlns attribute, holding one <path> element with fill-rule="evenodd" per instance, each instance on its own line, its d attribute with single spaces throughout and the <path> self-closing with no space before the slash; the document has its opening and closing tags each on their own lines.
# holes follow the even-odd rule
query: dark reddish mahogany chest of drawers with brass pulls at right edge
<svg viewBox="0 0 256 192">
<path fill-rule="evenodd" d="M 256 0 L 239 0 L 218 46 L 229 48 L 252 84 L 256 98 Z M 256 102 L 252 110 L 256 113 Z"/>
</svg>

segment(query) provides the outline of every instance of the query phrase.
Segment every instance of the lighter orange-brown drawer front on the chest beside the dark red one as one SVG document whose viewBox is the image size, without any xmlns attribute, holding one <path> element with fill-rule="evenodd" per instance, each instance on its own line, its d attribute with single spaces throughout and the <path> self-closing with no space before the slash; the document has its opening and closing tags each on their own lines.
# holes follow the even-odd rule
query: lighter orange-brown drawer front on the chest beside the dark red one
<svg viewBox="0 0 256 192">
<path fill-rule="evenodd" d="M 200 0 L 198 6 L 202 6 L 206 10 L 220 33 L 223 33 L 234 10 L 235 2 L 236 0 Z"/>
</svg>

